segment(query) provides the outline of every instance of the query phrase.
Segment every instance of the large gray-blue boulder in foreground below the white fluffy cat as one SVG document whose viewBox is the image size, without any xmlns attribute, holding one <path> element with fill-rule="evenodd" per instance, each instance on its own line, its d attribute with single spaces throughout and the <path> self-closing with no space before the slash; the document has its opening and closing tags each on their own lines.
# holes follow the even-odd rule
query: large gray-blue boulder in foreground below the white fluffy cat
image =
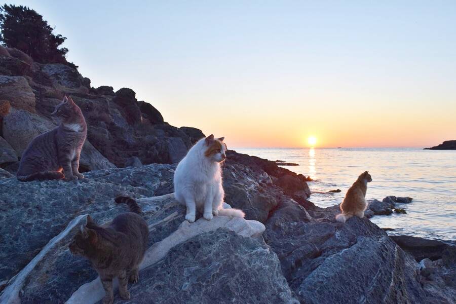
<svg viewBox="0 0 456 304">
<path fill-rule="evenodd" d="M 225 229 L 174 247 L 141 278 L 129 301 L 115 303 L 298 303 L 276 254 Z"/>
</svg>

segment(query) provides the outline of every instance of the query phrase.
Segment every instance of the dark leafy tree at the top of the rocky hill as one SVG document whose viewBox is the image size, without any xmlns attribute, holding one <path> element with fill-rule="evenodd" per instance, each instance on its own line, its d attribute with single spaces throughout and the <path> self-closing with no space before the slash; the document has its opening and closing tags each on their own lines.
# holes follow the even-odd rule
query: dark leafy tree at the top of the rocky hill
<svg viewBox="0 0 456 304">
<path fill-rule="evenodd" d="M 0 7 L 0 42 L 16 48 L 41 63 L 66 63 L 67 48 L 59 48 L 66 37 L 53 34 L 43 16 L 25 6 Z M 70 64 L 72 65 L 72 64 Z"/>
</svg>

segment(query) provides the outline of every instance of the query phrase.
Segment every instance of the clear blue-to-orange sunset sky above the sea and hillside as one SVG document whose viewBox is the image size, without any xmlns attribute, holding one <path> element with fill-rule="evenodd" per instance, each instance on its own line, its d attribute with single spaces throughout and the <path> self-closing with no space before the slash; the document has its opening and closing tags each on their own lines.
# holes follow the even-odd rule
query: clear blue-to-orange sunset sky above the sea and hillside
<svg viewBox="0 0 456 304">
<path fill-rule="evenodd" d="M 68 38 L 92 86 L 229 147 L 456 139 L 456 1 L 11 3 Z"/>
</svg>

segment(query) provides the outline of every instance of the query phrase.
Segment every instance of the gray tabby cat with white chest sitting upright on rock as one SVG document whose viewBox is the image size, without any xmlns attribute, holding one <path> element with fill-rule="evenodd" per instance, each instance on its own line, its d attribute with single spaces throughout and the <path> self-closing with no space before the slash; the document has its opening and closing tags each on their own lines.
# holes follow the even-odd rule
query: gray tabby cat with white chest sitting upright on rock
<svg viewBox="0 0 456 304">
<path fill-rule="evenodd" d="M 51 115 L 60 118 L 62 123 L 29 143 L 17 171 L 17 179 L 21 181 L 84 178 L 78 171 L 81 149 L 87 136 L 87 124 L 81 109 L 71 97 L 65 96 Z"/>
</svg>

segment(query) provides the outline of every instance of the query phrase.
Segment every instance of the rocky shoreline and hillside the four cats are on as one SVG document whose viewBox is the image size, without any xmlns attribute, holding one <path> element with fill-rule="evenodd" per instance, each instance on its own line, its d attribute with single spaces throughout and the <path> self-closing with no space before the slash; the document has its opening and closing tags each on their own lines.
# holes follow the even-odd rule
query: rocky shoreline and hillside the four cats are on
<svg viewBox="0 0 456 304">
<path fill-rule="evenodd" d="M 394 239 L 368 218 L 336 222 L 338 206 L 315 206 L 309 178 L 277 162 L 228 151 L 225 202 L 246 218 L 189 224 L 173 174 L 200 130 L 169 125 L 131 89 L 92 88 L 69 65 L 0 51 L 0 303 L 99 302 L 96 272 L 67 244 L 88 214 L 103 223 L 125 212 L 118 195 L 138 199 L 150 230 L 131 302 L 456 302 L 454 246 Z M 19 182 L 22 151 L 56 126 L 64 94 L 88 123 L 86 178 Z M 377 202 L 371 216 L 400 203 Z"/>
</svg>

